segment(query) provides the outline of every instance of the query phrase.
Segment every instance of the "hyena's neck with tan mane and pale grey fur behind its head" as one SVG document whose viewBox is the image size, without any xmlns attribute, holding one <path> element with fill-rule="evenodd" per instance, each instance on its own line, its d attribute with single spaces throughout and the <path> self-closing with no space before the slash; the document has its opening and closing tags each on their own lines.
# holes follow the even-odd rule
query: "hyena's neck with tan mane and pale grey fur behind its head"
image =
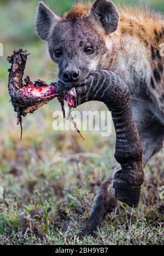
<svg viewBox="0 0 164 256">
<path fill-rule="evenodd" d="M 121 10 L 119 16 L 118 29 L 106 37 L 108 52 L 101 68 L 118 74 L 127 83 L 131 94 L 149 94 L 154 98 L 154 88 L 161 93 L 159 82 L 163 76 L 160 57 L 160 44 L 164 38 L 163 18 L 138 8 Z M 154 98 L 153 101 L 159 100 Z"/>
</svg>

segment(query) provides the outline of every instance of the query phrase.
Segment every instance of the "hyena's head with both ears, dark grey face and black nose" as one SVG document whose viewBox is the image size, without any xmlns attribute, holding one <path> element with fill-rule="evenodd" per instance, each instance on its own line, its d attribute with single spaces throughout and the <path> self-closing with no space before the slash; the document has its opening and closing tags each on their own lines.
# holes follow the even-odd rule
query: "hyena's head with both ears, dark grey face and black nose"
<svg viewBox="0 0 164 256">
<path fill-rule="evenodd" d="M 118 20 L 114 4 L 108 0 L 97 0 L 92 5 L 76 3 L 62 17 L 39 3 L 38 35 L 48 41 L 62 82 L 80 83 L 91 70 L 101 69 L 101 60 L 107 55 L 105 38 L 116 30 Z"/>
</svg>

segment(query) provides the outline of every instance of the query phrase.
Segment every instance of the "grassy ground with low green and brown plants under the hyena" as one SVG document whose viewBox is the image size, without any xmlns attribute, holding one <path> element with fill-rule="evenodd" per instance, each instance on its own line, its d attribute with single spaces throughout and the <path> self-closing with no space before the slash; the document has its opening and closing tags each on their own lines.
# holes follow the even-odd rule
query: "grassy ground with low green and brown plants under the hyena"
<svg viewBox="0 0 164 256">
<path fill-rule="evenodd" d="M 14 119 L 7 116 L 3 123 L 0 244 L 163 244 L 163 152 L 145 168 L 139 207 L 119 203 L 94 237 L 80 241 L 77 233 L 113 162 L 114 136 L 106 141 L 86 132 L 84 142 L 73 131 L 55 132 L 43 111 L 24 120 L 21 142 Z"/>
</svg>

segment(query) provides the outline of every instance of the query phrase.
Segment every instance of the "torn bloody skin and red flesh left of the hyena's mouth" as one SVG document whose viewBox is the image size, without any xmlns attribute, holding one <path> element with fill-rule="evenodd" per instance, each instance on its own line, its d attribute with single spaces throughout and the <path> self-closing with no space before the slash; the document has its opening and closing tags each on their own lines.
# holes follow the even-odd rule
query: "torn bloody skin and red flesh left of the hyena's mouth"
<svg viewBox="0 0 164 256">
<path fill-rule="evenodd" d="M 27 76 L 25 84 L 23 84 L 23 76 L 27 61 L 27 56 L 30 53 L 19 49 L 15 51 L 11 57 L 7 60 L 11 63 L 9 71 L 9 84 L 8 91 L 11 97 L 11 103 L 13 104 L 14 111 L 17 112 L 17 125 L 21 126 L 21 138 L 22 138 L 22 116 L 26 116 L 27 113 L 33 113 L 44 104 L 47 104 L 51 99 L 58 97 L 62 106 L 63 115 L 65 116 L 64 101 L 68 102 L 69 107 L 75 108 L 76 93 L 74 88 L 68 91 L 66 96 L 62 96 L 56 93 L 57 81 L 47 85 L 44 81 L 37 80 L 34 83 Z M 77 129 L 79 132 L 79 130 Z M 80 132 L 79 132 L 80 133 Z M 80 133 L 81 136 L 81 133 Z M 81 136 L 83 137 L 83 136 Z"/>
</svg>

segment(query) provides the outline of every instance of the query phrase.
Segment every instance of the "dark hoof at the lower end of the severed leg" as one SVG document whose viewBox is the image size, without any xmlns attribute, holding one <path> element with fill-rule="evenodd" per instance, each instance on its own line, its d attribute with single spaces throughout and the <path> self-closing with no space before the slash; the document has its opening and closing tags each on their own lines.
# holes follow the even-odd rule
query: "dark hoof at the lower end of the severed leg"
<svg viewBox="0 0 164 256">
<path fill-rule="evenodd" d="M 122 203 L 136 208 L 139 203 L 140 186 L 130 186 L 126 184 L 114 185 L 115 196 Z"/>
</svg>

